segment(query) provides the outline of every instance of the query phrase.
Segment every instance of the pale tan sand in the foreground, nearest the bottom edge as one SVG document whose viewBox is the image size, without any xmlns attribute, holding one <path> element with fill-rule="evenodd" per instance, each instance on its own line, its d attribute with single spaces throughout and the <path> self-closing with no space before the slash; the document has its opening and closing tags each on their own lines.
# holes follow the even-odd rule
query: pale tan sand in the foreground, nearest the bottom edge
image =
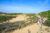
<svg viewBox="0 0 50 33">
<path fill-rule="evenodd" d="M 38 26 L 36 25 L 36 24 L 33 24 L 33 25 L 29 25 L 29 26 L 27 26 L 27 27 L 25 27 L 25 28 L 22 28 L 22 29 L 20 29 L 20 30 L 15 30 L 15 31 L 13 31 L 13 33 L 28 33 L 28 30 L 32 33 L 32 32 L 34 32 L 34 33 L 36 33 L 37 31 L 38 31 Z"/>
</svg>

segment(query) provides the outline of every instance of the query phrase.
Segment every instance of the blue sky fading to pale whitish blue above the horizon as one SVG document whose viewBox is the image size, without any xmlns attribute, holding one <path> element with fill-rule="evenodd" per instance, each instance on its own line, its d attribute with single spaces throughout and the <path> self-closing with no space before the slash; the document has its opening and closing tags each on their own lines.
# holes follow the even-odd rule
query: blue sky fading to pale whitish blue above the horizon
<svg viewBox="0 0 50 33">
<path fill-rule="evenodd" d="M 0 0 L 0 12 L 39 13 L 50 10 L 50 0 Z"/>
</svg>

